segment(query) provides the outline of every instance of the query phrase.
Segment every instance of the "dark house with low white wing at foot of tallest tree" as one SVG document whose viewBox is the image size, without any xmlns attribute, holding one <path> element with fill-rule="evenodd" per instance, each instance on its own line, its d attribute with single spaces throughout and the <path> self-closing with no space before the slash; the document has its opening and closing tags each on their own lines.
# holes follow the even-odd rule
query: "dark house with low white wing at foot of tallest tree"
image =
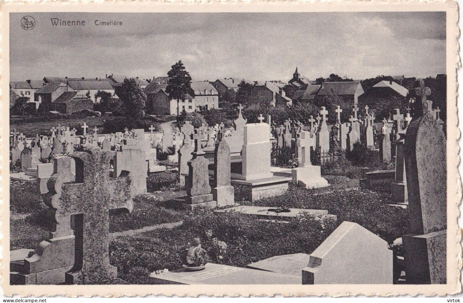
<svg viewBox="0 0 463 303">
<path fill-rule="evenodd" d="M 151 85 L 145 88 L 146 112 L 149 114 L 172 115 L 193 113 L 196 110 L 194 98 L 187 94 L 184 101 L 171 99 L 166 93 L 167 84 Z"/>
</svg>

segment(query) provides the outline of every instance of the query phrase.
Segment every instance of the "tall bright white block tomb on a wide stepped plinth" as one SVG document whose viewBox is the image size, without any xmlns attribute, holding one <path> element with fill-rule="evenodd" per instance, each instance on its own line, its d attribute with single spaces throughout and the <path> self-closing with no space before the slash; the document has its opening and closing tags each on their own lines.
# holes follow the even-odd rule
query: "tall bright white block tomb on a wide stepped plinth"
<svg viewBox="0 0 463 303">
<path fill-rule="evenodd" d="M 270 171 L 270 126 L 253 123 L 244 126 L 242 174 L 232 173 L 232 182 L 244 185 L 248 199 L 280 196 L 288 190 L 291 178 Z"/>
</svg>

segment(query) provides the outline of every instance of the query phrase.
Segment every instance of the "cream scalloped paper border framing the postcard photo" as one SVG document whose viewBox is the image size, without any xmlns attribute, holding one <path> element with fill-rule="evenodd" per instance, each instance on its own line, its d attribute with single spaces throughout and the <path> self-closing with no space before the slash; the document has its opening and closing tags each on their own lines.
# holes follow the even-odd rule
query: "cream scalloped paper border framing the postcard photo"
<svg viewBox="0 0 463 303">
<path fill-rule="evenodd" d="M 445 285 L 9 285 L 9 13 L 10 12 L 339 12 L 339 11 L 446 11 L 447 59 L 447 284 Z M 462 291 L 462 229 L 458 205 L 462 185 L 457 166 L 458 6 L 453 0 L 0 0 L 0 201 L 1 288 L 5 296 L 121 297 L 121 296 L 444 296 Z M 5 168 L 5 169 L 3 169 Z"/>
</svg>

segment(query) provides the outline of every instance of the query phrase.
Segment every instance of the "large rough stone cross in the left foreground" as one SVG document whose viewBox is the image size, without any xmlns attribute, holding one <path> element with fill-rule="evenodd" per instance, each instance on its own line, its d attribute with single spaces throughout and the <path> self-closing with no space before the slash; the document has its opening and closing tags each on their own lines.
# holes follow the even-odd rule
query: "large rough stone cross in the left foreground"
<svg viewBox="0 0 463 303">
<path fill-rule="evenodd" d="M 76 160 L 75 182 L 51 177 L 47 198 L 48 205 L 56 209 L 57 222 L 75 215 L 75 263 L 66 273 L 66 283 L 94 284 L 117 278 L 117 268 L 109 264 L 109 210 L 132 210 L 129 172 L 110 180 L 109 161 L 114 152 L 98 147 L 70 156 Z"/>
</svg>

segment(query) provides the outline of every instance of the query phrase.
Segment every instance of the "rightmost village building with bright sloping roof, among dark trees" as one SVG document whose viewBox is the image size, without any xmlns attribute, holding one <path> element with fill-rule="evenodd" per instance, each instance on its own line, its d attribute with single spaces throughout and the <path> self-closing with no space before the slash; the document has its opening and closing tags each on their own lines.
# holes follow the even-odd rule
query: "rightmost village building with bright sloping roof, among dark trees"
<svg viewBox="0 0 463 303">
<path fill-rule="evenodd" d="M 407 94 L 408 89 L 394 81 L 380 81 L 359 96 L 358 103 L 360 105 L 371 105 L 383 99 L 405 98 Z"/>
</svg>

